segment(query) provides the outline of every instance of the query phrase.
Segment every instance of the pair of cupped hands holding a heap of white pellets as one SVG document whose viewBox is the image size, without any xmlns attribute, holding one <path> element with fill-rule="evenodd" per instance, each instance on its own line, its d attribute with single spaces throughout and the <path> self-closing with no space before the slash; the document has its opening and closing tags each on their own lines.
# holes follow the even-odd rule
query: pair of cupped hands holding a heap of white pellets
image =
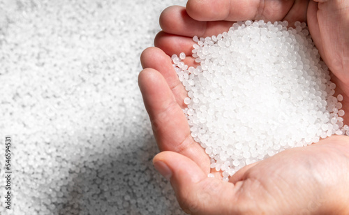
<svg viewBox="0 0 349 215">
<path fill-rule="evenodd" d="M 349 138 L 332 136 L 248 165 L 223 182 L 208 178 L 209 156 L 194 142 L 182 112 L 186 91 L 172 54 L 191 56 L 192 37 L 227 31 L 239 20 L 307 22 L 316 47 L 333 73 L 349 117 L 349 1 L 189 0 L 160 17 L 155 46 L 141 56 L 139 75 L 158 147 L 155 168 L 171 181 L 188 214 L 349 214 Z M 192 57 L 184 62 L 195 66 Z M 348 119 L 345 118 L 346 123 Z"/>
</svg>

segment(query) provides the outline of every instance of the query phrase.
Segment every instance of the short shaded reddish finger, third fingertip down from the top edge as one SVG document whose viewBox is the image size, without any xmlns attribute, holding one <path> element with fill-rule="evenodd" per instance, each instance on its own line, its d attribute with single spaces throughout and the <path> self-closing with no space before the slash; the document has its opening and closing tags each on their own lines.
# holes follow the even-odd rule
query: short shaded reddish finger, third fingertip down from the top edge
<svg viewBox="0 0 349 215">
<path fill-rule="evenodd" d="M 172 54 L 179 55 L 181 52 L 189 56 L 192 53 L 193 44 L 193 38 L 168 34 L 164 31 L 160 31 L 154 40 L 154 45 L 169 56 L 172 56 Z"/>
</svg>

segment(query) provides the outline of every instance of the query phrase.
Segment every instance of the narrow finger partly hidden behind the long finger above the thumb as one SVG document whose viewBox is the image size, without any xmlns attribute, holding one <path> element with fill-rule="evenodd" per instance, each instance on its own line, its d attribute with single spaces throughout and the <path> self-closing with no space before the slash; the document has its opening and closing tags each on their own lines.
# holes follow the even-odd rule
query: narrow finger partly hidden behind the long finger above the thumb
<svg viewBox="0 0 349 215">
<path fill-rule="evenodd" d="M 144 50 L 140 56 L 143 68 L 154 68 L 160 72 L 170 87 L 174 98 L 181 108 L 186 107 L 184 98 L 187 97 L 187 91 L 178 79 L 176 71 L 172 66 L 172 61 L 168 55 L 157 47 L 149 47 Z"/>
</svg>

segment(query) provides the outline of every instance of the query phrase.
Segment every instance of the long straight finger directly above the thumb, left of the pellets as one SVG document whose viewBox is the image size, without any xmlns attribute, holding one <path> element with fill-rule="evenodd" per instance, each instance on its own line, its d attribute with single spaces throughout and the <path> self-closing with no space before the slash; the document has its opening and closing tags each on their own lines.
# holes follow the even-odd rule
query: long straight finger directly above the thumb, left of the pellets
<svg viewBox="0 0 349 215">
<path fill-rule="evenodd" d="M 209 157 L 191 137 L 188 121 L 163 75 L 145 68 L 138 82 L 159 149 L 183 154 L 209 172 Z"/>
</svg>

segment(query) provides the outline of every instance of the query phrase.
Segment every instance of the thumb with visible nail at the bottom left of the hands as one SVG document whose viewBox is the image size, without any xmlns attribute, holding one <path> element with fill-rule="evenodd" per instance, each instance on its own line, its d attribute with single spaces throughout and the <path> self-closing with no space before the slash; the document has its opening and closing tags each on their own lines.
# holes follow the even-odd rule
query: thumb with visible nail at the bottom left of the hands
<svg viewBox="0 0 349 215">
<path fill-rule="evenodd" d="M 153 160 L 154 167 L 170 180 L 181 208 L 187 214 L 236 214 L 234 184 L 207 177 L 208 172 L 190 158 L 172 151 L 163 151 Z"/>
</svg>

